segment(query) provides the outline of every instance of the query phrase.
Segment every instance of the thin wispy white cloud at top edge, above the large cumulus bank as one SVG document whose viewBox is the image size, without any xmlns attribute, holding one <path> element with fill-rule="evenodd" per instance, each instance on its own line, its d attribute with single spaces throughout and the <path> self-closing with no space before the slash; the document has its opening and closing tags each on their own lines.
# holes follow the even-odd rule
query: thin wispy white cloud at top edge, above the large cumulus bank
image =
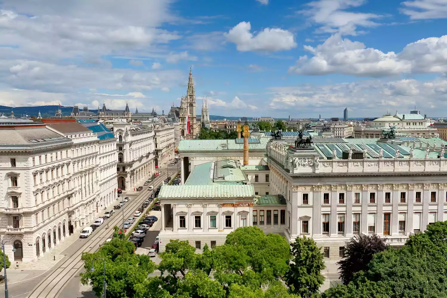
<svg viewBox="0 0 447 298">
<path fill-rule="evenodd" d="M 336 33 L 355 35 L 358 26 L 373 27 L 379 25 L 372 19 L 381 16 L 374 13 L 357 13 L 346 11 L 359 7 L 366 0 L 316 0 L 306 4 L 307 9 L 298 13 L 304 14 L 309 21 L 320 25 L 316 33 Z"/>
</svg>

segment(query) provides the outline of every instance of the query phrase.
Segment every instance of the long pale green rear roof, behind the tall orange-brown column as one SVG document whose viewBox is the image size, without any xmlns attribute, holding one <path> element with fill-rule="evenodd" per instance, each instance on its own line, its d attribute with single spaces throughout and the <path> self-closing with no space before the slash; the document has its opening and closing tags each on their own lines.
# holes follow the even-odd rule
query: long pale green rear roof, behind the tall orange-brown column
<svg viewBox="0 0 447 298">
<path fill-rule="evenodd" d="M 266 150 L 268 137 L 261 137 L 259 143 L 249 143 L 249 150 Z M 244 149 L 244 143 L 236 143 L 236 139 L 224 140 L 180 140 L 178 150 L 181 151 L 225 151 Z"/>
</svg>

